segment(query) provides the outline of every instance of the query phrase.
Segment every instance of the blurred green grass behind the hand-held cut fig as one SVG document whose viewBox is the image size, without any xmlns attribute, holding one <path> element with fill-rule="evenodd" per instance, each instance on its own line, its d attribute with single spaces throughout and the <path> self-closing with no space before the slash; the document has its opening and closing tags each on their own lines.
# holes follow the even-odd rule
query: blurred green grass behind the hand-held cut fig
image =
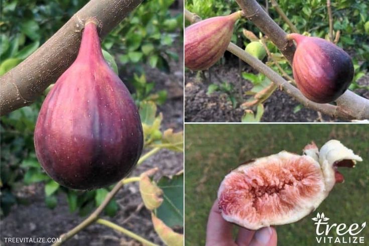
<svg viewBox="0 0 369 246">
<path fill-rule="evenodd" d="M 354 169 L 340 169 L 345 182 L 336 184 L 316 211 L 296 223 L 276 226 L 279 246 L 316 245 L 311 218 L 317 212 L 324 212 L 330 224 L 361 225 L 367 220 L 369 125 L 186 125 L 185 244 L 205 244 L 209 209 L 221 180 L 231 169 L 244 161 L 282 150 L 301 154 L 311 141 L 320 148 L 331 139 L 341 141 L 363 161 Z M 336 236 L 335 230 L 329 236 Z M 369 230 L 365 228 L 358 236 L 368 240 Z"/>
</svg>

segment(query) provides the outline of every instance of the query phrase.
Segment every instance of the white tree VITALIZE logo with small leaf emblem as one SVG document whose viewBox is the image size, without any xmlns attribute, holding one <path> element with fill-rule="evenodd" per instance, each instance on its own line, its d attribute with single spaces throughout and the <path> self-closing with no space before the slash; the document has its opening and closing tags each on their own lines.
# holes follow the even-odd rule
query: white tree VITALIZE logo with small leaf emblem
<svg viewBox="0 0 369 246">
<path fill-rule="evenodd" d="M 324 216 L 324 213 L 317 213 L 315 218 L 312 220 L 316 221 L 316 234 L 315 237 L 318 243 L 365 243 L 364 236 L 357 236 L 364 227 L 366 226 L 366 222 L 361 224 L 361 228 L 357 223 L 353 223 L 350 226 L 347 226 L 345 223 L 337 224 L 329 224 L 329 218 Z M 331 230 L 335 230 L 337 236 L 328 236 Z"/>
</svg>

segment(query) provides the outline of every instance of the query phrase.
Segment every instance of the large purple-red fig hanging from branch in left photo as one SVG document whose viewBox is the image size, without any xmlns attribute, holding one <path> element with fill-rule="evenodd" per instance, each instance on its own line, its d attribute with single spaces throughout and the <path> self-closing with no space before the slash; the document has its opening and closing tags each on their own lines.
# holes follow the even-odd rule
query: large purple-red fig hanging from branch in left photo
<svg viewBox="0 0 369 246">
<path fill-rule="evenodd" d="M 47 94 L 36 122 L 36 155 L 59 184 L 78 190 L 119 181 L 143 148 L 138 109 L 105 62 L 96 24 L 87 22 L 78 56 Z"/>
</svg>

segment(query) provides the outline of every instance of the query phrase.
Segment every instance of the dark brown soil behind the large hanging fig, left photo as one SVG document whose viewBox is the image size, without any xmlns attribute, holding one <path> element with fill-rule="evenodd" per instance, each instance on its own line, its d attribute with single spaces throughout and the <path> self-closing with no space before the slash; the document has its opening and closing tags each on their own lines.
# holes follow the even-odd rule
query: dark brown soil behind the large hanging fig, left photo
<svg viewBox="0 0 369 246">
<path fill-rule="evenodd" d="M 171 62 L 171 73 L 166 74 L 149 66 L 145 71 L 149 81 L 155 81 L 155 90 L 167 89 L 168 99 L 158 110 L 163 113 L 162 130 L 173 128 L 175 132 L 183 130 L 183 43 L 175 42 L 173 52 L 179 54 L 179 62 Z M 150 75 L 150 76 L 149 76 Z M 153 167 L 159 167 L 156 177 L 174 175 L 183 169 L 183 154 L 162 150 L 136 168 L 132 175 L 138 176 Z M 78 225 L 84 218 L 77 213 L 70 213 L 66 195 L 58 195 L 58 205 L 51 210 L 46 207 L 44 185 L 35 184 L 22 187 L 27 190 L 29 205 L 15 205 L 11 213 L 2 218 L 1 245 L 9 245 L 4 237 L 58 237 Z M 156 234 L 149 210 L 143 206 L 137 183 L 123 187 L 115 196 L 119 205 L 117 214 L 113 217 L 102 216 L 114 223 L 131 230 L 144 238 L 163 245 Z M 14 245 L 14 244 L 12 244 Z M 34 245 L 19 243 L 17 245 Z M 37 244 L 48 245 L 48 244 Z M 92 224 L 80 231 L 63 245 L 141 245 L 136 240 L 99 224 Z"/>
</svg>

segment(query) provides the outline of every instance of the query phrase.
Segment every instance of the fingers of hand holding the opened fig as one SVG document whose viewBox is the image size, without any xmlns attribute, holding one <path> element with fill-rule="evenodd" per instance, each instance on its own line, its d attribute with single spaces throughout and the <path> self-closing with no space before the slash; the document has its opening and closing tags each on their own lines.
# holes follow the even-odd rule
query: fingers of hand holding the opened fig
<svg viewBox="0 0 369 246">
<path fill-rule="evenodd" d="M 206 227 L 207 246 L 276 246 L 277 231 L 274 227 L 259 230 L 239 228 L 236 240 L 232 237 L 233 224 L 224 220 L 215 201 L 211 207 Z"/>
</svg>

